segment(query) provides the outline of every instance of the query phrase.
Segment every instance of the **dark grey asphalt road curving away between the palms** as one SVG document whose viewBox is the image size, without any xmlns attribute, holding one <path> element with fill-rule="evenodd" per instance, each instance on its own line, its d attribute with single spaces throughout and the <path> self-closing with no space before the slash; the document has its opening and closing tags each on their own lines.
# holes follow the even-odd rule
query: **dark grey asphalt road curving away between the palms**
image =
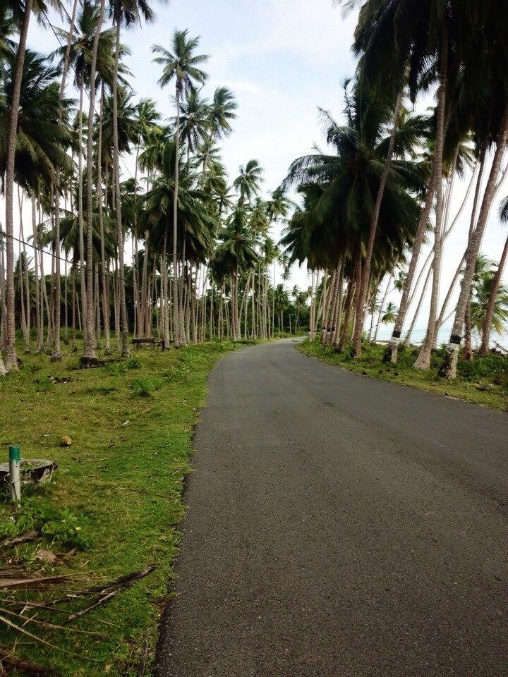
<svg viewBox="0 0 508 677">
<path fill-rule="evenodd" d="M 507 432 L 291 341 L 227 356 L 159 675 L 508 676 Z"/>
</svg>

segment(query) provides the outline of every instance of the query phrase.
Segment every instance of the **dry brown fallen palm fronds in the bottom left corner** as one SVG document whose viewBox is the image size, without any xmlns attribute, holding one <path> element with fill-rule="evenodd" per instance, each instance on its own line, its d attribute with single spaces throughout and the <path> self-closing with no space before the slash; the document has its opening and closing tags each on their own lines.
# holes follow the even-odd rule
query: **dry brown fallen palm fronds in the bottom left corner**
<svg viewBox="0 0 508 677">
<path fill-rule="evenodd" d="M 61 633 L 63 630 L 97 638 L 104 637 L 102 633 L 71 628 L 69 624 L 107 604 L 117 594 L 154 570 L 155 566 L 147 566 L 115 580 L 90 586 L 90 580 L 83 581 L 73 575 L 27 575 L 19 566 L 4 567 L 0 570 L 0 626 L 3 625 L 15 636 L 21 635 L 83 661 L 94 661 L 91 657 L 69 652 L 59 646 L 58 634 L 56 639 L 52 638 L 50 641 L 46 638 L 46 633 Z M 65 593 L 63 595 L 62 587 Z M 27 629 L 26 626 L 30 624 L 37 626 L 39 634 Z M 4 665 L 42 677 L 54 673 L 51 669 L 18 658 L 13 649 L 0 647 L 0 677 Z"/>
</svg>

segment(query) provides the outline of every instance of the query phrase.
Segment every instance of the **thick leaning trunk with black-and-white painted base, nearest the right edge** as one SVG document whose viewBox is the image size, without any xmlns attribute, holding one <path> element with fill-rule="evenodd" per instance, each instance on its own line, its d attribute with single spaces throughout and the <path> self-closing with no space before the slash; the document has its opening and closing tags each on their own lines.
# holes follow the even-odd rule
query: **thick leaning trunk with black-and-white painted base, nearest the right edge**
<svg viewBox="0 0 508 677">
<path fill-rule="evenodd" d="M 442 364 L 440 367 L 440 375 L 447 379 L 454 379 L 456 377 L 456 365 L 459 359 L 459 346 L 462 340 L 462 332 L 464 331 L 464 317 L 466 315 L 466 304 L 471 298 L 471 284 L 473 283 L 474 267 L 478 252 L 480 250 L 483 233 L 487 226 L 488 215 L 492 200 L 494 200 L 497 188 L 497 176 L 500 171 L 502 157 L 506 148 L 508 140 L 508 104 L 504 109 L 503 118 L 497 133 L 496 150 L 492 166 L 490 168 L 490 175 L 485 186 L 485 193 L 483 194 L 483 202 L 480 207 L 480 214 L 478 215 L 478 223 L 476 229 L 469 241 L 468 250 L 466 254 L 466 272 L 461 283 L 461 291 L 459 300 L 455 309 L 454 326 L 452 335 L 449 338 L 449 343 L 444 353 Z"/>
</svg>

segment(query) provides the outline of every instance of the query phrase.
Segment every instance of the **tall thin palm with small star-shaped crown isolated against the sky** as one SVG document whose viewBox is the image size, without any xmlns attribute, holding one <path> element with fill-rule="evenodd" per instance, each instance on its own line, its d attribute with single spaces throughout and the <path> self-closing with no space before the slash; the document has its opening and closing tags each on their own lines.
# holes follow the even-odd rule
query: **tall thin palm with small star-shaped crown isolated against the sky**
<svg viewBox="0 0 508 677">
<path fill-rule="evenodd" d="M 205 54 L 195 54 L 200 42 L 199 37 L 188 37 L 188 30 L 177 30 L 174 32 L 172 49 L 168 51 L 160 45 L 154 45 L 153 52 L 157 54 L 154 61 L 159 63 L 162 68 L 162 76 L 159 78 L 159 86 L 166 87 L 175 80 L 175 99 L 176 99 L 176 126 L 175 126 L 175 190 L 173 206 L 173 324 L 175 346 L 179 346 L 183 337 L 183 327 L 181 322 L 181 309 L 179 307 L 179 293 L 177 281 L 178 268 L 178 193 L 179 193 L 179 154 L 180 154 L 180 113 L 181 99 L 183 95 L 188 94 L 195 89 L 195 85 L 202 85 L 207 79 L 207 74 L 202 71 L 200 66 L 206 63 L 208 56 Z"/>
</svg>

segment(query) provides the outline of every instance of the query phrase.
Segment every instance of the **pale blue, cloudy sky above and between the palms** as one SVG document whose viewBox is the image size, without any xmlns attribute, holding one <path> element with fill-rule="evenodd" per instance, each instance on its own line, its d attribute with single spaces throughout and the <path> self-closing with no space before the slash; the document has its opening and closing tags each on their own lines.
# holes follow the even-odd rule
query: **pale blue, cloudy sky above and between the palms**
<svg viewBox="0 0 508 677">
<path fill-rule="evenodd" d="M 211 96 L 215 87 L 226 85 L 238 100 L 234 133 L 222 145 L 229 176 L 232 180 L 241 164 L 258 159 L 264 168 L 263 191 L 268 195 L 286 176 L 292 160 L 312 152 L 315 144 L 322 147 L 317 106 L 341 119 L 342 85 L 355 70 L 351 44 L 356 14 L 344 16 L 332 0 L 171 0 L 154 7 L 155 23 L 123 32 L 123 42 L 131 49 L 126 61 L 135 94 L 155 99 L 164 118 L 173 116 L 173 92 L 157 85 L 160 66 L 152 63 L 152 45 L 169 49 L 175 29 L 188 28 L 192 36 L 199 35 L 200 52 L 210 55 L 205 94 Z M 51 31 L 32 23 L 28 44 L 48 52 L 56 42 Z M 429 99 L 417 102 L 416 109 L 423 110 L 429 103 Z M 132 159 L 126 158 L 123 166 L 126 174 L 132 172 Z M 456 183 L 452 217 L 469 178 Z M 500 197 L 507 194 L 508 181 Z M 464 252 L 471 203 L 472 198 L 447 241 L 442 298 Z M 279 237 L 279 228 L 273 235 Z M 495 205 L 483 252 L 498 260 L 505 237 Z M 306 288 L 306 269 L 294 267 L 287 284 Z M 390 294 L 389 300 L 397 305 L 397 294 Z M 425 301 L 417 327 L 425 327 L 427 314 Z"/>
</svg>

